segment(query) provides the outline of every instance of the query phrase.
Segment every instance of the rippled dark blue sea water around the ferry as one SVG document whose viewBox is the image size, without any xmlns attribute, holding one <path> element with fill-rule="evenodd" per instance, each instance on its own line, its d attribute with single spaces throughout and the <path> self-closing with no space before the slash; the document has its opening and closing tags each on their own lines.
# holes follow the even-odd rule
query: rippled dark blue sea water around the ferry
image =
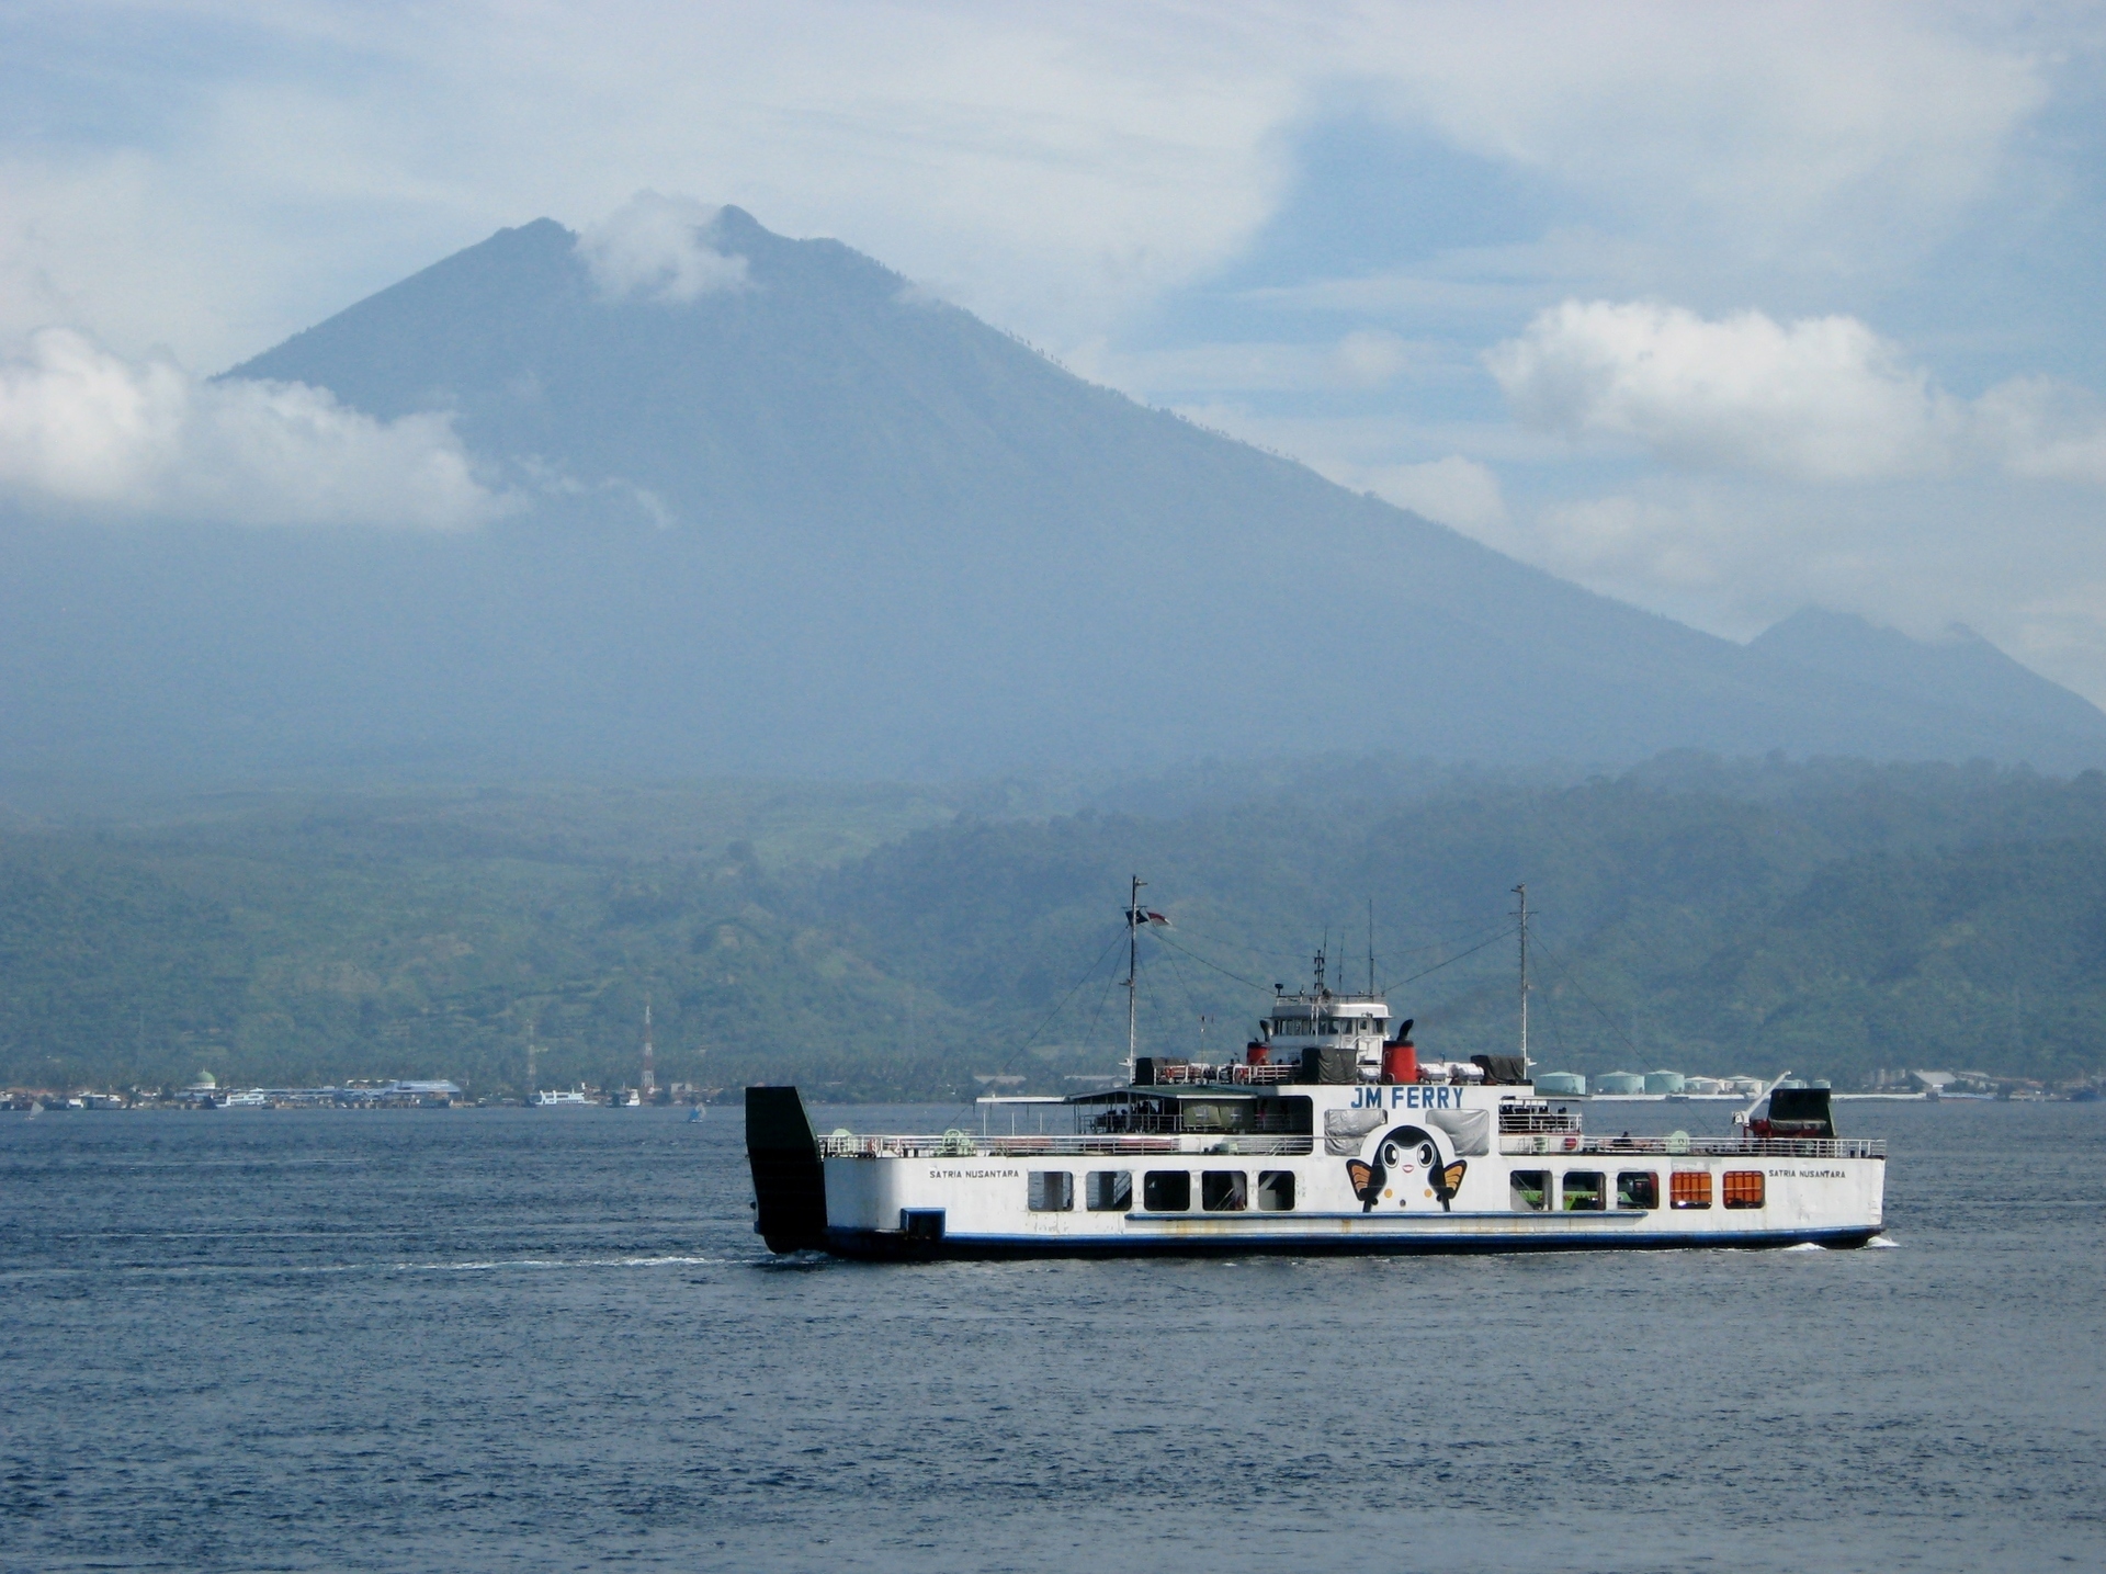
<svg viewBox="0 0 2106 1574">
<path fill-rule="evenodd" d="M 2106 1566 L 2106 1108 L 1841 1121 L 1891 1245 L 866 1266 L 735 1108 L 8 1115 L 0 1566 Z"/>
</svg>

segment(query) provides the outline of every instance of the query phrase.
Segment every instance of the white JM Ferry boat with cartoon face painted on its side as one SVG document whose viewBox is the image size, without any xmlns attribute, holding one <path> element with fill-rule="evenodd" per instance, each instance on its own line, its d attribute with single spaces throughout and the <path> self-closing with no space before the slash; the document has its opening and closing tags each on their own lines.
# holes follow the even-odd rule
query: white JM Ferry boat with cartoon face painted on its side
<svg viewBox="0 0 2106 1574">
<path fill-rule="evenodd" d="M 815 1136 L 796 1087 L 748 1087 L 754 1228 L 777 1254 L 845 1258 L 1843 1247 L 1881 1233 L 1887 1144 L 1836 1136 L 1826 1087 L 1771 1085 L 1725 1138 L 1590 1136 L 1571 1102 L 1537 1096 L 1516 889 L 1518 1056 L 1419 1060 L 1413 1024 L 1392 1024 L 1373 990 L 1327 988 L 1318 955 L 1310 988 L 1274 990 L 1243 1060 L 1129 1054 L 1127 1081 L 1104 1091 L 981 1098 L 979 1132 Z M 1129 1051 L 1150 919 L 1129 906 Z"/>
</svg>

